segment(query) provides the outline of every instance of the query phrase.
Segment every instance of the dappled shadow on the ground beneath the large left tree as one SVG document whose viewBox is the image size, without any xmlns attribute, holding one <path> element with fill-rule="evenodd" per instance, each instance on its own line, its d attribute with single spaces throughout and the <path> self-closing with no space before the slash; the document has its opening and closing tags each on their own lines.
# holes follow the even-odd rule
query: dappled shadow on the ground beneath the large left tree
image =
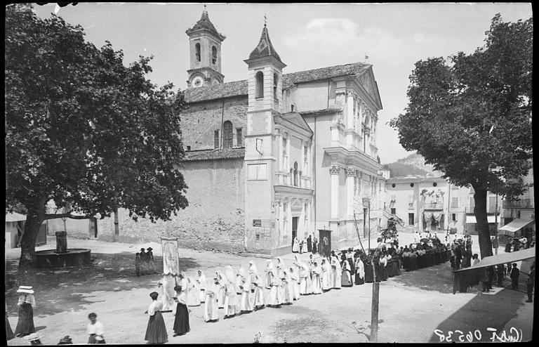
<svg viewBox="0 0 539 347">
<path fill-rule="evenodd" d="M 67 308 L 81 310 L 89 303 L 97 302 L 91 299 L 91 292 L 118 292 L 133 288 L 155 288 L 162 279 L 163 259 L 154 256 L 156 273 L 150 275 L 135 275 L 134 254 L 122 252 L 119 254 L 91 254 L 92 263 L 81 268 L 37 269 L 34 292 L 38 316 L 53 315 L 64 312 Z M 199 266 L 194 258 L 180 258 L 180 268 L 189 270 Z M 17 313 L 17 270 L 18 259 L 6 262 L 6 303 L 8 315 Z"/>
</svg>

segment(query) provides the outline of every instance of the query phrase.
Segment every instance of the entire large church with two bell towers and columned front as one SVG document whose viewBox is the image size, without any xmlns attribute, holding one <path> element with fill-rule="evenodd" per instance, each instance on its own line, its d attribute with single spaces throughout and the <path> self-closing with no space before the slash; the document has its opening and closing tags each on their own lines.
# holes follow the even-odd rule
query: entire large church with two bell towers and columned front
<svg viewBox="0 0 539 347">
<path fill-rule="evenodd" d="M 365 236 L 364 225 L 385 226 L 376 145 L 382 103 L 372 65 L 285 73 L 264 25 L 244 60 L 247 79 L 227 82 L 225 36 L 206 11 L 186 34 L 186 155 L 178 166 L 189 207 L 150 226 L 156 235 L 177 235 L 185 247 L 279 255 L 291 252 L 294 237 L 318 237 L 319 229 L 331 230 L 334 249 L 357 244 L 354 213 Z M 126 223 L 148 228 L 121 218 Z"/>
</svg>

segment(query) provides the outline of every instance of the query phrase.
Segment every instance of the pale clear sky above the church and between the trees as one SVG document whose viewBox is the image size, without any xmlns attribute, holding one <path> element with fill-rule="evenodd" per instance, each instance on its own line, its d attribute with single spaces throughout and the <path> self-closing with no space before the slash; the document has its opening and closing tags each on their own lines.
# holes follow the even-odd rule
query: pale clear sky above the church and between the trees
<svg viewBox="0 0 539 347">
<path fill-rule="evenodd" d="M 34 5 L 48 18 L 55 4 Z M 433 57 L 472 53 L 483 46 L 496 13 L 505 22 L 532 17 L 526 3 L 461 4 L 217 4 L 206 10 L 222 43 L 225 82 L 247 78 L 244 60 L 258 44 L 264 16 L 275 50 L 287 65 L 284 73 L 348 63 L 373 65 L 382 110 L 378 112 L 378 155 L 382 164 L 406 157 L 397 131 L 387 122 L 404 112 L 414 64 Z M 204 11 L 202 3 L 79 3 L 58 15 L 81 25 L 95 46 L 108 40 L 124 51 L 124 63 L 154 55 L 148 78 L 159 86 L 187 87 L 189 39 Z M 368 59 L 366 59 L 366 55 Z"/>
</svg>

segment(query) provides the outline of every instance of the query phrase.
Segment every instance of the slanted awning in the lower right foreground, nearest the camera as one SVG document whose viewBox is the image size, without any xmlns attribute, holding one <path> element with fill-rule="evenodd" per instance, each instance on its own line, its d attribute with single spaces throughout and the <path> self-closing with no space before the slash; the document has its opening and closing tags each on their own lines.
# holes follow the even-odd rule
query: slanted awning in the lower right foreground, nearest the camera
<svg viewBox="0 0 539 347">
<path fill-rule="evenodd" d="M 453 272 L 453 294 L 457 291 L 461 293 L 466 292 L 468 287 L 479 284 L 481 275 L 488 266 L 514 263 L 515 261 L 523 261 L 531 258 L 535 258 L 535 247 L 510 253 L 496 254 L 495 256 L 486 256 L 475 266 Z"/>
</svg>

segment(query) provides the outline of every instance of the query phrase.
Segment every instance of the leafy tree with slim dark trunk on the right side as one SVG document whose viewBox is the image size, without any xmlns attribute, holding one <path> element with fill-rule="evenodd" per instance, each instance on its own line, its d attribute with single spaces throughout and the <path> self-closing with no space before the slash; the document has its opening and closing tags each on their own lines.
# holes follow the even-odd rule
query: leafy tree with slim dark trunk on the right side
<svg viewBox="0 0 539 347">
<path fill-rule="evenodd" d="M 415 64 L 408 106 L 390 122 L 406 150 L 474 188 L 481 257 L 492 255 L 487 191 L 518 197 L 526 189 L 518 178 L 532 166 L 532 51 L 532 18 L 503 22 L 497 14 L 474 53 Z"/>
</svg>

